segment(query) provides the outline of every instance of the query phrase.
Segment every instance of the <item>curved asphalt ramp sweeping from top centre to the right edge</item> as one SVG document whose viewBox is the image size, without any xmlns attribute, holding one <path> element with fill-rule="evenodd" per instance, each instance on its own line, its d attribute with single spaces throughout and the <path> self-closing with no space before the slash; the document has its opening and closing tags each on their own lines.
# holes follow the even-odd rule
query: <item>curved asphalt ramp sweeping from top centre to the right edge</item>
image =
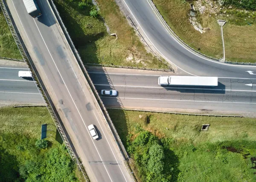
<svg viewBox="0 0 256 182">
<path fill-rule="evenodd" d="M 256 78 L 256 75 L 246 72 L 256 73 L 256 66 L 238 66 L 212 61 L 181 45 L 163 26 L 164 23 L 160 21 L 150 0 L 122 0 L 122 2 L 128 12 L 132 13 L 131 18 L 138 24 L 143 37 L 160 52 L 163 58 L 177 65 L 180 68 L 178 72 L 182 69 L 198 76 Z"/>
</svg>

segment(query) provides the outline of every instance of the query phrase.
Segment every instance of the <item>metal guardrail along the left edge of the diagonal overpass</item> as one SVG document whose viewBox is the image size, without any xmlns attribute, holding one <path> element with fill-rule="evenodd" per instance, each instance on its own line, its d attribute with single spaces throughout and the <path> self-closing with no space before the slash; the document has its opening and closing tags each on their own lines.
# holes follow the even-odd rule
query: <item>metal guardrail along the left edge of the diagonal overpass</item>
<svg viewBox="0 0 256 182">
<path fill-rule="evenodd" d="M 83 166 L 81 165 L 81 162 L 79 161 L 79 158 L 76 156 L 76 153 L 73 150 L 73 144 L 69 142 L 69 138 L 66 134 L 67 132 L 64 129 L 63 124 L 61 123 L 61 120 L 60 120 L 58 114 L 56 114 L 57 110 L 55 109 L 54 104 L 52 103 L 52 101 L 49 97 L 49 94 L 44 86 L 44 83 L 42 82 L 41 77 L 38 74 L 38 71 L 37 71 L 34 63 L 29 56 L 26 46 L 25 46 L 20 34 L 18 33 L 17 27 L 12 18 L 12 15 L 11 15 L 11 13 L 8 9 L 8 6 L 4 0 L 0 0 L 0 6 L 1 6 L 1 9 L 5 16 L 6 22 L 9 26 L 9 29 L 11 30 L 12 36 L 15 39 L 15 43 L 17 44 L 17 47 L 18 47 L 20 54 L 23 58 L 23 61 L 26 63 L 27 68 L 32 72 L 32 78 L 38 88 L 38 91 L 41 93 L 41 96 L 46 104 L 47 110 L 49 111 L 49 113 L 52 117 L 52 120 L 58 129 L 58 132 L 61 134 L 61 138 L 64 141 L 65 146 L 67 147 L 67 151 L 70 154 L 71 159 L 76 160 L 77 165 L 79 165 L 79 169 L 81 170 L 81 172 L 84 175 L 84 179 L 87 182 L 89 182 L 90 180 L 86 174 L 86 171 L 84 170 Z"/>
</svg>

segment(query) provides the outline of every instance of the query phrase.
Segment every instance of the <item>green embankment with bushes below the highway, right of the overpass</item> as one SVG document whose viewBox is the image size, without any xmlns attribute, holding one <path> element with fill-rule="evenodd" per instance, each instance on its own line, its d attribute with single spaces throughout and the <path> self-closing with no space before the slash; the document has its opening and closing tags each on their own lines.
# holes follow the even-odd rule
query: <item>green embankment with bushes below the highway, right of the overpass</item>
<svg viewBox="0 0 256 182">
<path fill-rule="evenodd" d="M 256 181 L 256 119 L 108 111 L 142 182 L 158 181 L 156 176 L 177 182 Z M 210 124 L 209 130 L 201 131 L 202 124 Z M 164 157 L 154 155 L 156 148 Z M 152 173 L 151 156 L 160 161 L 153 164 L 159 174 Z"/>
</svg>

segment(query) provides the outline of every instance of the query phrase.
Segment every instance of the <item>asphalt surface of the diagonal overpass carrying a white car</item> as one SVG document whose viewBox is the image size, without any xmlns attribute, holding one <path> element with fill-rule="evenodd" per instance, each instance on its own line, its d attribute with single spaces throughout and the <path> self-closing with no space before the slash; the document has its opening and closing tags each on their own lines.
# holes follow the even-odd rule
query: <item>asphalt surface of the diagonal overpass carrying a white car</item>
<svg viewBox="0 0 256 182">
<path fill-rule="evenodd" d="M 42 16 L 27 14 L 22 0 L 7 0 L 21 37 L 91 181 L 133 181 L 120 151 L 93 99 L 47 1 L 38 1 Z M 99 139 L 87 126 L 94 124 Z"/>
</svg>

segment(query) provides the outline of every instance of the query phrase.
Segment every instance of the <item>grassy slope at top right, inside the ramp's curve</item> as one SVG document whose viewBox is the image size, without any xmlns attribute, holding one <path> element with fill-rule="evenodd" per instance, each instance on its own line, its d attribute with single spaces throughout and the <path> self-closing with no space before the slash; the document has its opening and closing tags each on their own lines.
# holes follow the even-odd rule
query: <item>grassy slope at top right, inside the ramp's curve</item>
<svg viewBox="0 0 256 182">
<path fill-rule="evenodd" d="M 231 0 L 226 1 L 227 3 L 235 3 Z M 187 15 L 190 11 L 189 3 L 193 1 L 153 0 L 153 2 L 171 29 L 184 42 L 196 50 L 200 48 L 200 52 L 215 58 L 223 56 L 221 30 L 217 20 L 227 20 L 223 28 L 227 61 L 256 62 L 256 13 L 252 12 L 253 9 L 251 11 L 228 9 L 230 4 L 225 4 L 226 8 L 220 10 L 217 16 L 211 14 L 209 17 L 209 13 L 200 14 L 198 18 L 201 20 L 202 26 L 210 28 L 210 31 L 201 34 L 189 23 L 189 16 Z M 207 4 L 204 0 L 202 3 Z M 238 8 L 243 7 L 246 6 L 240 5 Z"/>
</svg>

